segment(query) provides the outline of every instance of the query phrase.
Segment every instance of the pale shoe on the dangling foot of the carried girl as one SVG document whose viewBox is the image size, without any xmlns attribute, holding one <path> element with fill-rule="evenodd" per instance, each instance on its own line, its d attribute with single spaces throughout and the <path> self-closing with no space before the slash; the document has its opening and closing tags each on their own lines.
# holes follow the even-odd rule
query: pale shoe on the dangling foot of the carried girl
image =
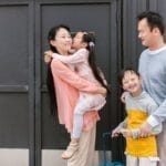
<svg viewBox="0 0 166 166">
<path fill-rule="evenodd" d="M 66 151 L 62 153 L 61 157 L 63 159 L 70 159 L 76 151 L 79 151 L 79 143 L 70 143 Z"/>
</svg>

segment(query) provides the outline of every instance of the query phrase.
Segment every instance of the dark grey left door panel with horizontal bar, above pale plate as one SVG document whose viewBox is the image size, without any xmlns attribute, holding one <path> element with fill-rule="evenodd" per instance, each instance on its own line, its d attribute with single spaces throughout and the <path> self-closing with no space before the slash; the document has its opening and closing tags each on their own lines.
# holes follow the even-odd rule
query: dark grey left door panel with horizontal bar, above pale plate
<svg viewBox="0 0 166 166">
<path fill-rule="evenodd" d="M 0 6 L 0 142 L 3 147 L 29 145 L 28 6 Z M 8 131 L 8 132 L 7 132 Z"/>
</svg>

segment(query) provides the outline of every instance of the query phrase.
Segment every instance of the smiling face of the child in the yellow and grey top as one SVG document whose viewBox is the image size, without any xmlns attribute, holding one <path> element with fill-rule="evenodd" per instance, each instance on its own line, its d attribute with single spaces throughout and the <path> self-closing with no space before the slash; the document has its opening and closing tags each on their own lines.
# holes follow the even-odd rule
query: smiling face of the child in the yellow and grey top
<svg viewBox="0 0 166 166">
<path fill-rule="evenodd" d="M 134 72 L 125 72 L 122 84 L 123 89 L 129 92 L 132 95 L 138 95 L 142 92 L 141 77 Z"/>
</svg>

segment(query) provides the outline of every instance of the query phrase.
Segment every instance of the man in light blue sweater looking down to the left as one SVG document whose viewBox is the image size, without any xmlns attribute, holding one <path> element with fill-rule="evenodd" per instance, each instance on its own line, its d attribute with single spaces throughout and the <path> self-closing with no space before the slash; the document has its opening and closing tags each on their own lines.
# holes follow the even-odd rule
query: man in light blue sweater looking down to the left
<svg viewBox="0 0 166 166">
<path fill-rule="evenodd" d="M 149 135 L 152 128 L 163 123 L 163 132 L 158 135 L 159 165 L 166 166 L 166 43 L 163 18 L 152 11 L 137 17 L 138 38 L 144 50 L 139 58 L 138 71 L 143 79 L 143 89 L 158 104 L 158 108 L 141 126 L 142 137 Z"/>
</svg>

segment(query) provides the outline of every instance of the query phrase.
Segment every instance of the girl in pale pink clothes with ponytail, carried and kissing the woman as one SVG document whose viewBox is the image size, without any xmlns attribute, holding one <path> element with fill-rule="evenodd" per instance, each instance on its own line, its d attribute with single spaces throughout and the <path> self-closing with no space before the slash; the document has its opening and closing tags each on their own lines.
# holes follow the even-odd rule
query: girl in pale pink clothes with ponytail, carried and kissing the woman
<svg viewBox="0 0 166 166">
<path fill-rule="evenodd" d="M 86 32 L 77 32 L 73 39 L 73 49 L 75 53 L 63 56 L 58 53 L 48 52 L 52 58 L 60 60 L 73 69 L 83 79 L 102 85 L 108 90 L 102 72 L 94 60 L 94 38 Z M 69 159 L 79 151 L 79 139 L 83 128 L 83 115 L 90 110 L 100 111 L 105 105 L 105 96 L 102 94 L 90 94 L 80 91 L 80 97 L 74 108 L 73 131 L 71 133 L 71 143 L 62 154 L 62 158 Z"/>
</svg>

